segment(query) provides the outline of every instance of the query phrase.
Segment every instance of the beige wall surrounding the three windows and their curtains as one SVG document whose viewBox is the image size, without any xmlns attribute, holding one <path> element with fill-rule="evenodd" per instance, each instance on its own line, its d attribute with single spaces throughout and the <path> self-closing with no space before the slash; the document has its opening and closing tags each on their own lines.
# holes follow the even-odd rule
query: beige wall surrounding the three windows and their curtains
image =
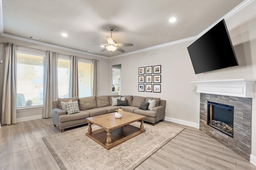
<svg viewBox="0 0 256 170">
<path fill-rule="evenodd" d="M 21 41 L 17 39 L 12 39 L 8 37 L 0 37 L 0 60 L 3 60 L 5 62 L 5 52 L 4 52 L 4 44 L 2 42 L 10 42 L 15 43 L 16 45 L 21 45 L 25 47 L 31 47 L 34 49 L 41 49 L 41 50 L 50 50 L 54 52 L 58 52 L 61 54 L 66 55 L 77 55 L 78 57 L 84 57 L 87 59 L 98 59 L 98 95 L 108 95 L 108 82 L 110 82 L 109 77 L 110 74 L 108 72 L 110 68 L 110 61 L 108 59 L 100 58 L 100 57 L 94 57 L 86 54 L 76 53 L 72 51 L 67 51 L 63 49 L 57 49 L 54 47 L 48 47 L 44 45 L 39 45 L 35 43 L 30 43 L 26 41 Z M 3 80 L 4 80 L 4 62 L 0 64 L 0 89 L 3 87 Z M 0 96 L 2 96 L 2 91 L 0 90 Z M 0 98 L 0 103 L 2 103 L 2 97 Z M 1 107 L 1 105 L 0 105 Z M 1 108 L 0 108 L 1 109 Z M 0 110 L 2 111 L 2 109 Z M 28 119 L 34 119 L 34 118 L 40 118 L 42 115 L 42 108 L 36 108 L 36 109 L 22 109 L 17 111 L 17 121 L 26 121 Z"/>
</svg>

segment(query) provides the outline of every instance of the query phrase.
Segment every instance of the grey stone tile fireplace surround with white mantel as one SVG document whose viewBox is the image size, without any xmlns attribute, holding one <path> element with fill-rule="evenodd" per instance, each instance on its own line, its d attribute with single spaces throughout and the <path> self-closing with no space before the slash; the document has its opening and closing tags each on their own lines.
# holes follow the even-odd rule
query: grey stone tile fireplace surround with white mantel
<svg viewBox="0 0 256 170">
<path fill-rule="evenodd" d="M 200 130 L 250 161 L 252 85 L 255 80 L 192 82 L 200 92 Z M 234 106 L 233 137 L 207 125 L 208 101 Z"/>
</svg>

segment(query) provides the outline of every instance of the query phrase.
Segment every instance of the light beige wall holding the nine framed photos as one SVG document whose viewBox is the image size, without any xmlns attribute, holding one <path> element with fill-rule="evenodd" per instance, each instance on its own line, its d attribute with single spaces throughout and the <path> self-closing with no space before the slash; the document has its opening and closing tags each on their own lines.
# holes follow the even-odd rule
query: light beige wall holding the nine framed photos
<svg viewBox="0 0 256 170">
<path fill-rule="evenodd" d="M 176 44 L 112 59 L 122 64 L 122 95 L 159 97 L 166 100 L 166 117 L 199 125 L 196 75 L 186 50 L 191 42 Z M 161 93 L 138 92 L 138 68 L 161 65 Z"/>
</svg>

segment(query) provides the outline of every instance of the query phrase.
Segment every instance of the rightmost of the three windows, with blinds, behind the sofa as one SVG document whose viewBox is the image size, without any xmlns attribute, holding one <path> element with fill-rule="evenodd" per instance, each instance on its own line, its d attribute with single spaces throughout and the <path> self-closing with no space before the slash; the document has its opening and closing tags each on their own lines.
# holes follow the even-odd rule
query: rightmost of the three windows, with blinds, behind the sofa
<svg viewBox="0 0 256 170">
<path fill-rule="evenodd" d="M 92 61 L 78 59 L 79 98 L 92 96 Z"/>
</svg>

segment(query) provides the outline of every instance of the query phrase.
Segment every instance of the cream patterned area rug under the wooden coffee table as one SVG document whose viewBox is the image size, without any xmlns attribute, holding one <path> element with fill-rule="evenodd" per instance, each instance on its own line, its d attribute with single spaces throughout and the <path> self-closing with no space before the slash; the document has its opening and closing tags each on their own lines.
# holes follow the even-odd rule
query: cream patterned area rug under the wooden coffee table
<svg viewBox="0 0 256 170">
<path fill-rule="evenodd" d="M 131 123 L 140 127 L 140 122 Z M 110 149 L 87 137 L 88 126 L 43 137 L 44 143 L 62 170 L 133 170 L 168 143 L 184 128 L 160 122 L 144 123 L 146 132 Z M 100 129 L 92 125 L 92 131 Z"/>
</svg>

